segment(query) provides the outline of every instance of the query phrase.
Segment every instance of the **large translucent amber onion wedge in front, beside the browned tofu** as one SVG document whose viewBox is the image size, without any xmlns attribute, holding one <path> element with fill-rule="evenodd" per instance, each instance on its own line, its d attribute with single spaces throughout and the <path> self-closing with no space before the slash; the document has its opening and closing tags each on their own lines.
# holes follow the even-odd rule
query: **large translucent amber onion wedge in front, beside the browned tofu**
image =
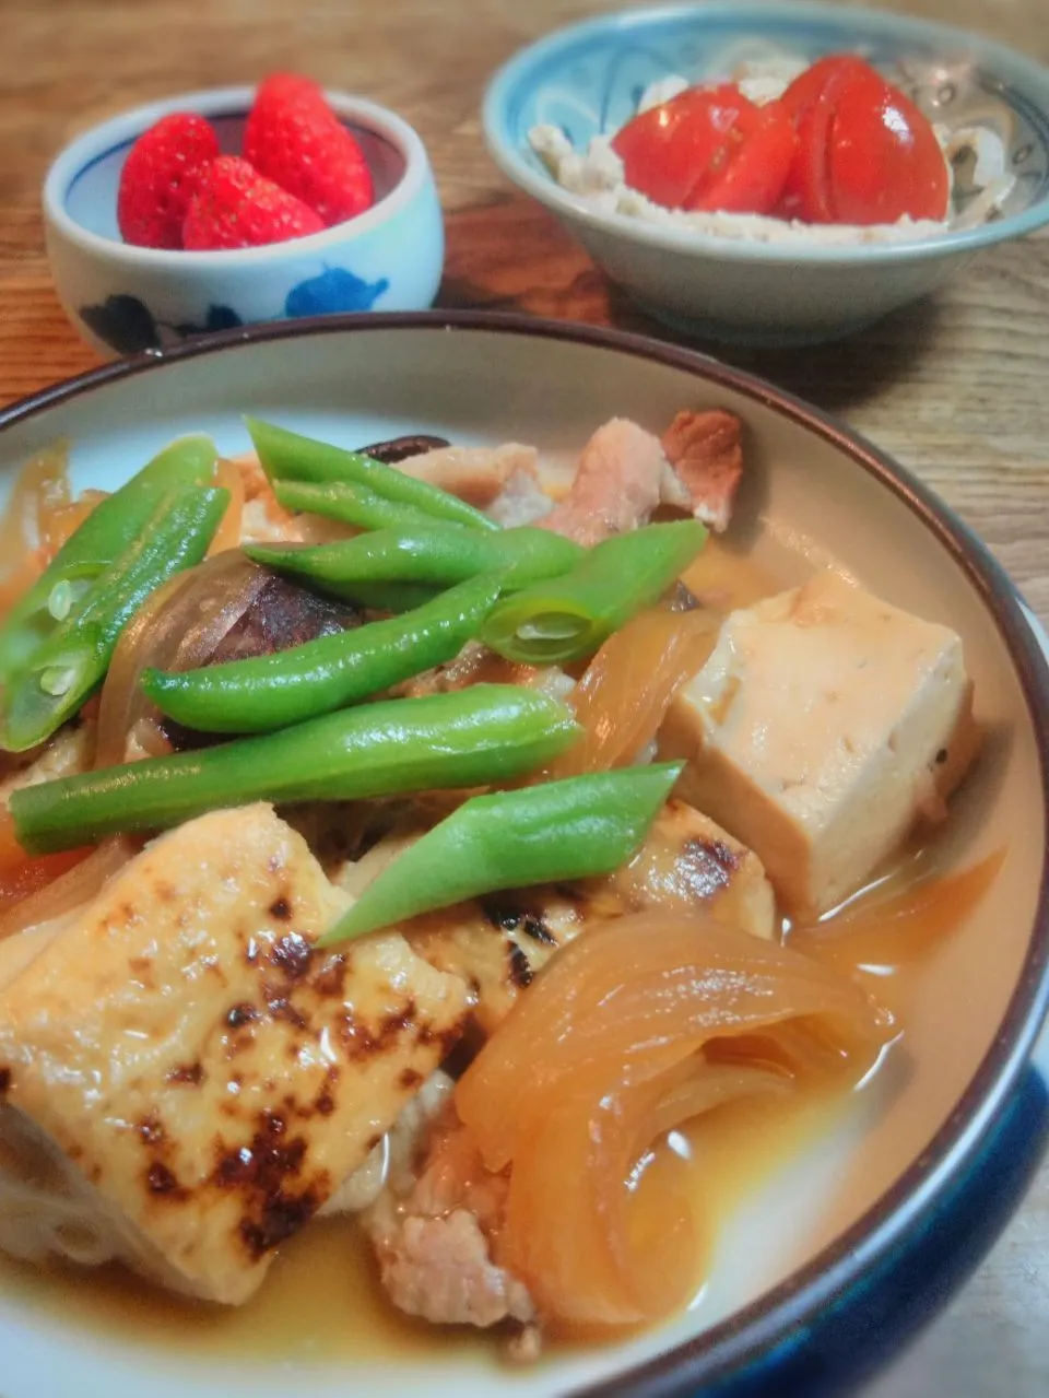
<svg viewBox="0 0 1049 1398">
<path fill-rule="evenodd" d="M 687 1199 L 631 1188 L 638 1160 L 733 1097 L 817 1069 L 858 1081 L 891 1033 L 846 976 L 703 914 L 584 932 L 457 1089 L 485 1166 L 510 1169 L 496 1260 L 555 1325 L 670 1314 L 697 1281 L 697 1225 Z"/>
</svg>

